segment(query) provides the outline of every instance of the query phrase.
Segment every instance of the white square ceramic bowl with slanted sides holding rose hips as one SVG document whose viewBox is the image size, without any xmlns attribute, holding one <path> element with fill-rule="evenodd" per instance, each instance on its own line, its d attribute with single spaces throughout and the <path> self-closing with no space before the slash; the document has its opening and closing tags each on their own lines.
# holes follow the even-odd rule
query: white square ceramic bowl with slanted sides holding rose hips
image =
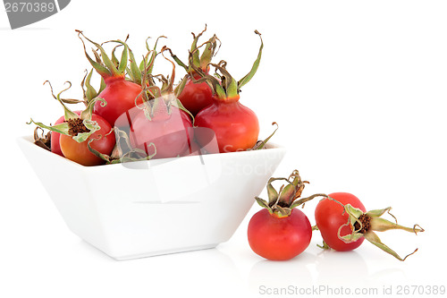
<svg viewBox="0 0 447 298">
<path fill-rule="evenodd" d="M 285 149 L 80 166 L 18 143 L 65 223 L 115 260 L 215 247 L 230 239 Z"/>
</svg>

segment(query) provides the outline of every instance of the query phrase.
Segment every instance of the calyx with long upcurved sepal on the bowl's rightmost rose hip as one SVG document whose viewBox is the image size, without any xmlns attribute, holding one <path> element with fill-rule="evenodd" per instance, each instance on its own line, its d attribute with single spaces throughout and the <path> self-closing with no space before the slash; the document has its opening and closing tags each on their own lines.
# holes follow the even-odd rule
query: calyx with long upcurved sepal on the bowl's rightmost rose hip
<svg viewBox="0 0 447 298">
<path fill-rule="evenodd" d="M 264 43 L 261 38 L 261 33 L 255 30 L 255 33 L 261 39 L 261 46 L 259 47 L 259 52 L 257 54 L 257 59 L 253 63 L 251 70 L 247 73 L 242 79 L 236 81 L 232 78 L 232 75 L 226 70 L 226 62 L 221 61 L 218 64 L 208 63 L 209 65 L 215 67 L 215 75 L 210 75 L 207 72 L 204 72 L 201 67 L 198 67 L 193 63 L 195 51 L 190 52 L 190 66 L 194 70 L 195 73 L 198 74 L 199 79 L 195 80 L 193 77 L 193 81 L 202 82 L 206 81 L 209 87 L 213 90 L 216 98 L 225 100 L 236 98 L 239 99 L 240 88 L 247 84 L 251 78 L 257 72 L 257 68 L 259 67 L 259 63 L 261 61 L 262 49 L 264 47 Z M 202 46 L 200 46 L 202 47 Z M 196 49 L 198 50 L 198 48 Z"/>
</svg>

